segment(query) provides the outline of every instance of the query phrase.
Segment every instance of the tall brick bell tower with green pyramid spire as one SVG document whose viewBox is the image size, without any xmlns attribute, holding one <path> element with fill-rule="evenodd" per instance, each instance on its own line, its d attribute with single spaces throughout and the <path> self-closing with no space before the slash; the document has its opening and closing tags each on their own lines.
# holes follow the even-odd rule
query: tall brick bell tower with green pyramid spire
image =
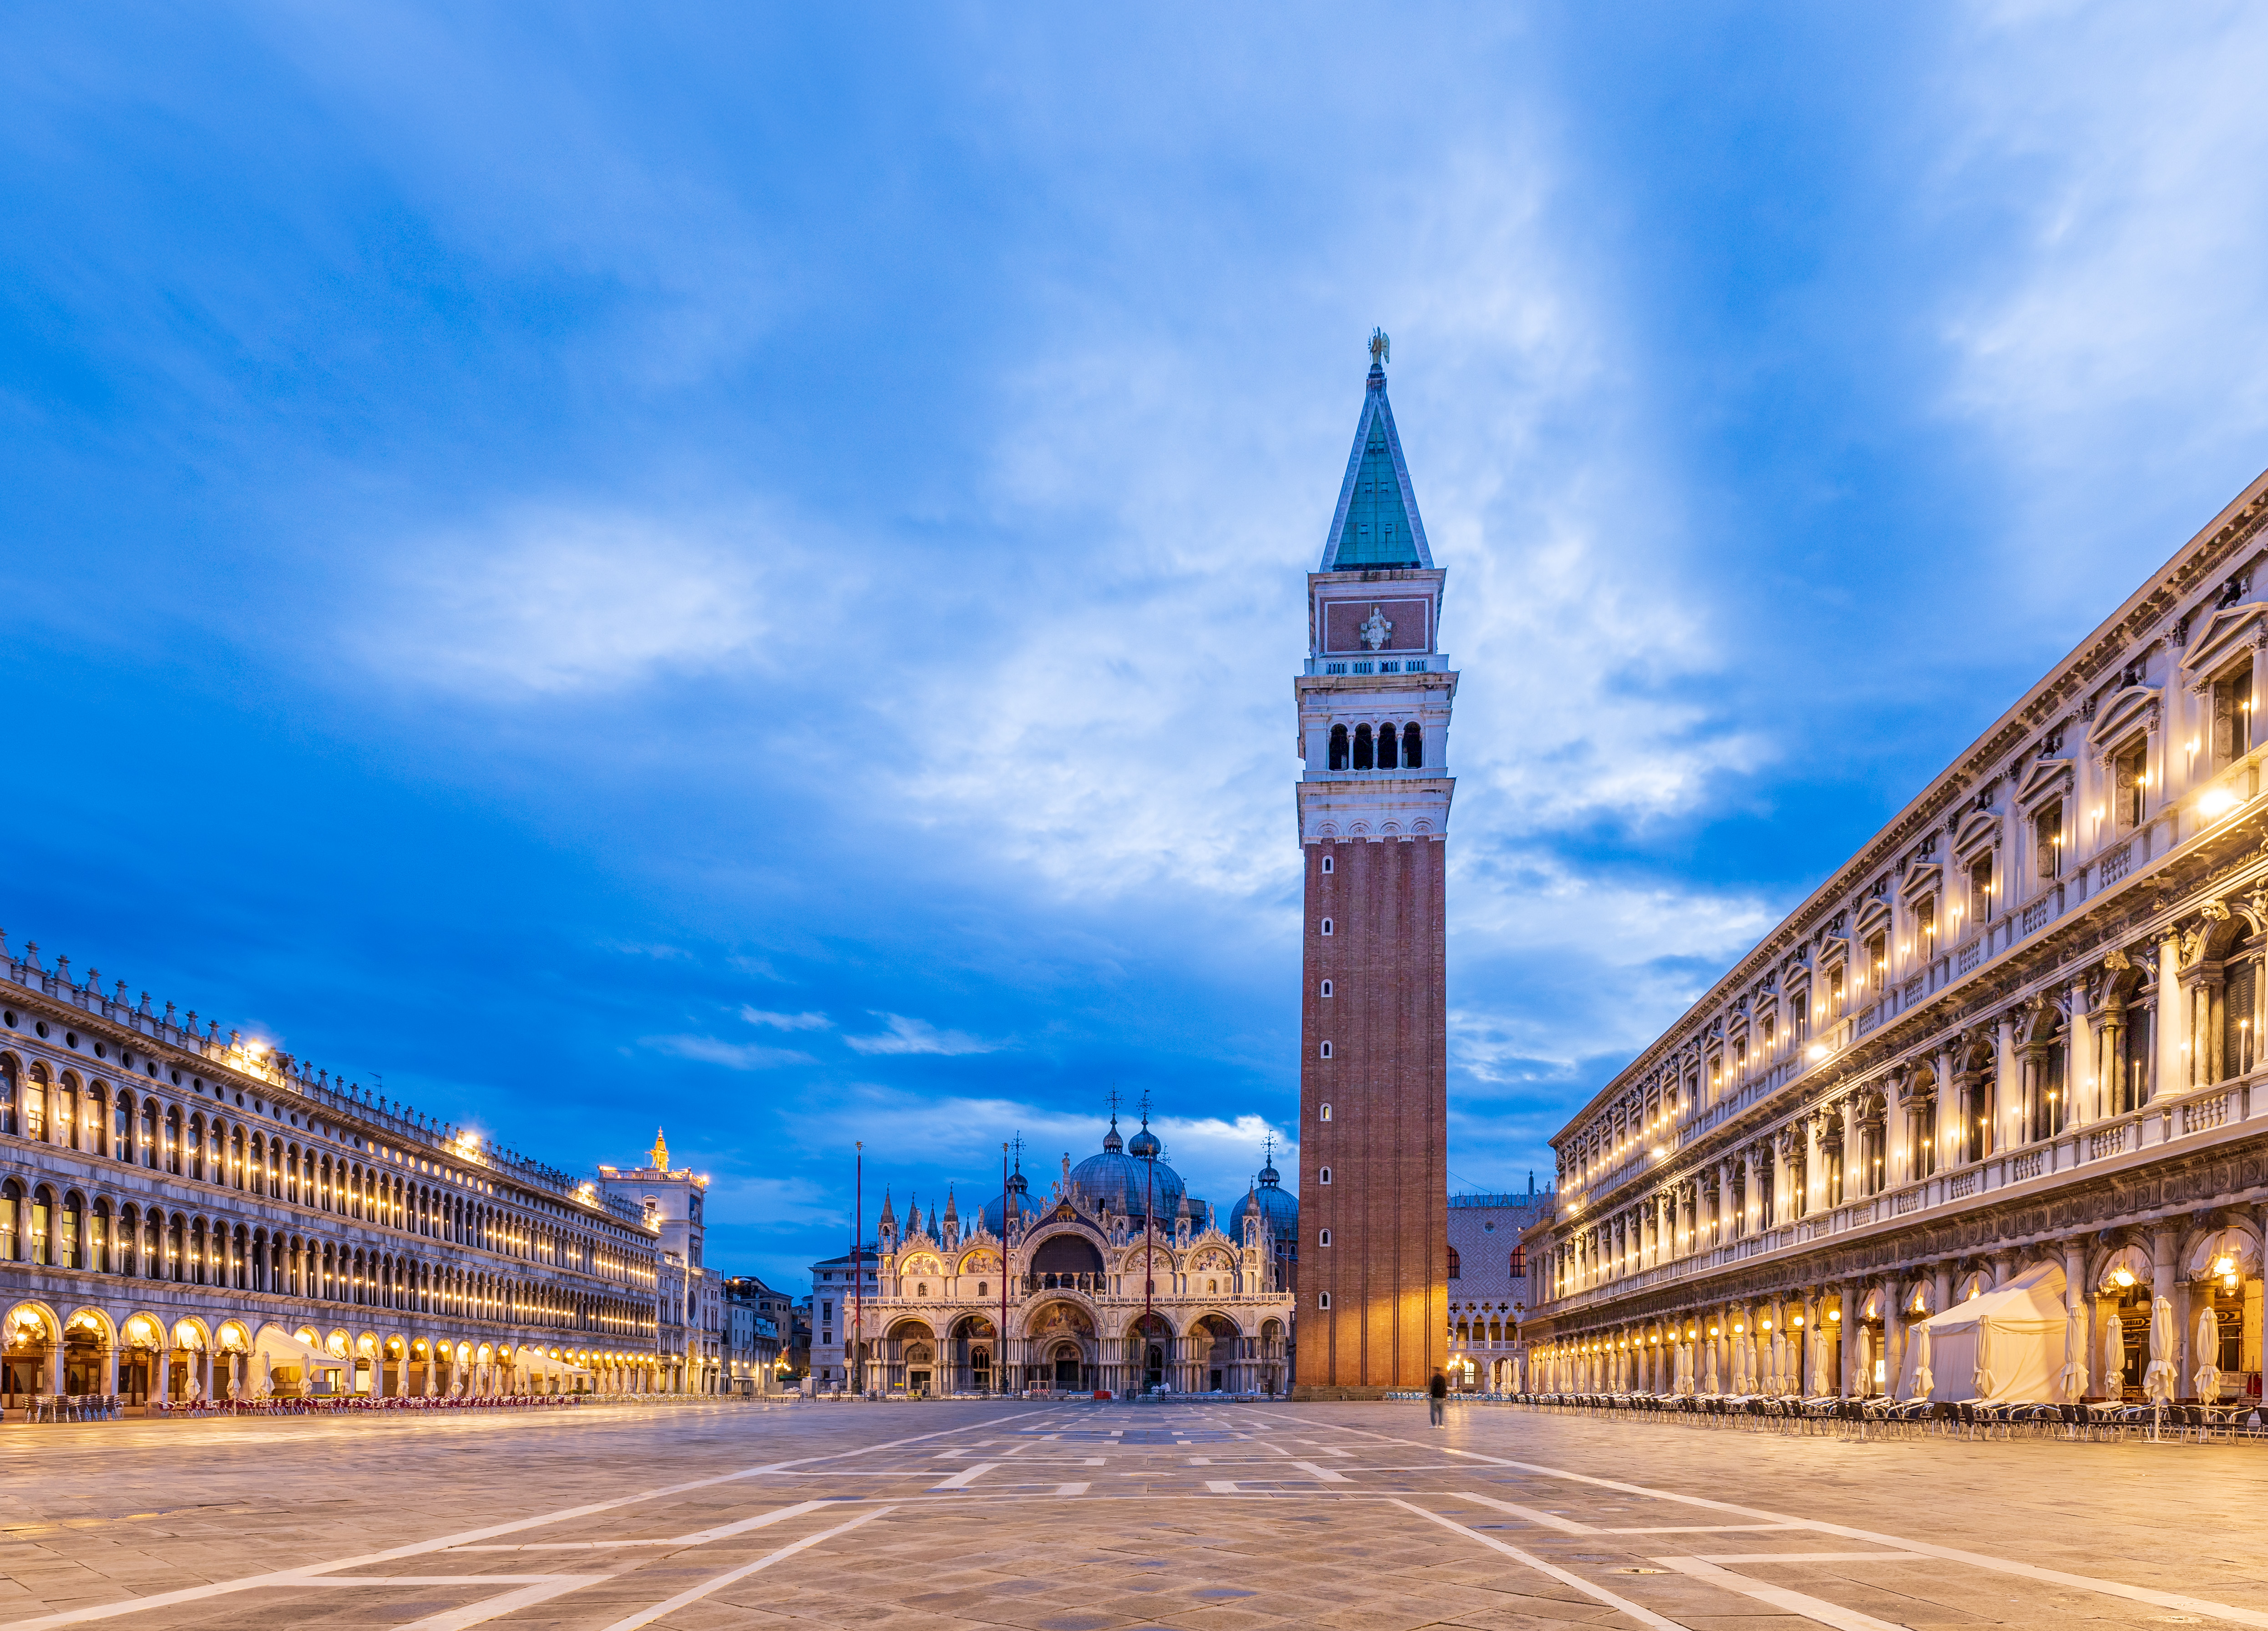
<svg viewBox="0 0 2268 1631">
<path fill-rule="evenodd" d="M 1300 1375 L 1304 1397 L 1422 1388 L 1447 1361 L 1445 574 L 1427 549 L 1386 336 L 1322 567 L 1300 701 Z"/>
</svg>

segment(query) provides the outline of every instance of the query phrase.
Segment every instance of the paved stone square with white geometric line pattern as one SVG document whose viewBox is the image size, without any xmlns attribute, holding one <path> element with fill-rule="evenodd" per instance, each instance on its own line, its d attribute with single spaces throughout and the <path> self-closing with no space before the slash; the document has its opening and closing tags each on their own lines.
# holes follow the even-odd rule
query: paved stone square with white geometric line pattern
<svg viewBox="0 0 2268 1631">
<path fill-rule="evenodd" d="M 1422 1404 L 7 1427 L 7 1626 L 2268 1626 L 2252 1445 Z"/>
</svg>

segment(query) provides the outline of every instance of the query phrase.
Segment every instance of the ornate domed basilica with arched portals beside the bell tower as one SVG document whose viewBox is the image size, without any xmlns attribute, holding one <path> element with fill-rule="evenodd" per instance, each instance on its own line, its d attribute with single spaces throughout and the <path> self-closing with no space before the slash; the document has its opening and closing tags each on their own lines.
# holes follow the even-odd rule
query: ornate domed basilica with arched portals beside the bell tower
<svg viewBox="0 0 2268 1631">
<path fill-rule="evenodd" d="M 962 1218 L 885 1195 L 875 1239 L 812 1266 L 828 1393 L 1286 1393 L 1300 1207 L 1275 1166 L 1218 1218 L 1148 1123 L 1034 1198 L 1021 1159 Z M 1005 1334 L 1005 1336 L 1002 1336 Z"/>
</svg>

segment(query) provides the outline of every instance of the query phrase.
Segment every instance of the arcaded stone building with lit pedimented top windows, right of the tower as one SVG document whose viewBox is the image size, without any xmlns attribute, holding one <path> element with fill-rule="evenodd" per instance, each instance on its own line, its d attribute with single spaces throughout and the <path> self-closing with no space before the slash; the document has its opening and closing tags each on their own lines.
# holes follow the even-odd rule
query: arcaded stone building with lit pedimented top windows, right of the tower
<svg viewBox="0 0 2268 1631">
<path fill-rule="evenodd" d="M 1533 1386 L 2259 1397 L 2263 492 L 1560 1130 Z"/>
</svg>

